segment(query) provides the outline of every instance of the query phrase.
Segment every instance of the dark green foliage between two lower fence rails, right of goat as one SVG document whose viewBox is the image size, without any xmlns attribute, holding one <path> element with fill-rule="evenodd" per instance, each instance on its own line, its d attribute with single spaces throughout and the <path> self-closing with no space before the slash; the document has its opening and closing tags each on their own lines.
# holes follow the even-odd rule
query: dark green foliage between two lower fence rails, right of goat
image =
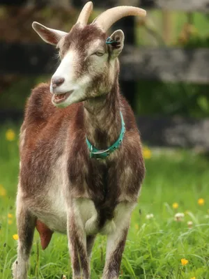
<svg viewBox="0 0 209 279">
<path fill-rule="evenodd" d="M 134 110 L 137 114 L 208 117 L 208 85 L 141 81 Z"/>
</svg>

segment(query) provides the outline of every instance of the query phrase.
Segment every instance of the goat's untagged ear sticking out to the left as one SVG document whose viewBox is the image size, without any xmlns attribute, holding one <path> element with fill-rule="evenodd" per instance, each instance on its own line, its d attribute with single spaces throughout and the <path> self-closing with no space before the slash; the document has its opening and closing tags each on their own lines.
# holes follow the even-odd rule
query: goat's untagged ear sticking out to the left
<svg viewBox="0 0 209 279">
<path fill-rule="evenodd" d="M 40 38 L 50 45 L 57 45 L 59 40 L 67 34 L 63 31 L 47 28 L 38 22 L 33 22 L 32 27 L 36 33 L 38 33 Z"/>
</svg>

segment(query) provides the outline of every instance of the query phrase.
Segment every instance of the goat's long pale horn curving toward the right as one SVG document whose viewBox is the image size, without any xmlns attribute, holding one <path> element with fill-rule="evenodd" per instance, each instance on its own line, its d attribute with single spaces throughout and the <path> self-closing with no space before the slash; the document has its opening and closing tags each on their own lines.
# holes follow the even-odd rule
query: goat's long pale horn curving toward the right
<svg viewBox="0 0 209 279">
<path fill-rule="evenodd" d="M 128 15 L 139 15 L 141 17 L 146 16 L 146 10 L 132 6 L 118 6 L 110 8 L 104 13 L 95 18 L 93 23 L 97 24 L 104 32 L 106 32 L 112 24 L 121 20 L 122 17 Z"/>
</svg>

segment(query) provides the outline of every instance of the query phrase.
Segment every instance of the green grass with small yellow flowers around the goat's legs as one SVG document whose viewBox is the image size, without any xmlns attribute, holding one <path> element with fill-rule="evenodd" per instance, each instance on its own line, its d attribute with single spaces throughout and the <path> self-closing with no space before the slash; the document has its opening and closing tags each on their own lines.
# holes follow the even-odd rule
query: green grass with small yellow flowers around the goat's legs
<svg viewBox="0 0 209 279">
<path fill-rule="evenodd" d="M 0 278 L 11 278 L 10 266 L 16 257 L 15 193 L 18 175 L 17 136 L 5 139 L 7 128 L 0 130 L 0 184 L 7 194 L 0 196 Z M 18 130 L 16 128 L 17 135 Z M 209 278 L 209 172 L 208 160 L 189 151 L 153 151 L 146 160 L 146 179 L 139 205 L 132 214 L 121 265 L 121 278 Z M 198 204 L 199 198 L 205 204 Z M 179 208 L 173 209 L 173 202 Z M 140 210 L 139 210 L 140 209 Z M 182 222 L 174 215 L 185 213 Z M 8 224 L 8 213 L 13 214 Z M 146 219 L 153 213 L 154 218 Z M 187 222 L 193 226 L 188 228 Z M 100 278 L 104 266 L 106 239 L 98 236 L 93 248 L 91 278 Z M 182 266 L 180 259 L 189 262 Z M 47 250 L 42 251 L 36 233 L 31 252 L 29 278 L 71 278 L 67 237 L 54 234 Z"/>
</svg>

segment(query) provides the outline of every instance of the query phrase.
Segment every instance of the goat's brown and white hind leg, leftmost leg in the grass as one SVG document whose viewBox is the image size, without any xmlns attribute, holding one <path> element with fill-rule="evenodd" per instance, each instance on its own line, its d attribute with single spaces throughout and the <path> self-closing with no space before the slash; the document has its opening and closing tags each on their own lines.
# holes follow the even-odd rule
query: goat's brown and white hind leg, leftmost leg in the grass
<svg viewBox="0 0 209 279">
<path fill-rule="evenodd" d="M 13 278 L 26 279 L 36 218 L 31 215 L 28 209 L 26 209 L 26 206 L 19 194 L 17 195 L 16 215 L 19 240 L 17 246 L 17 259 L 13 264 Z"/>
</svg>

